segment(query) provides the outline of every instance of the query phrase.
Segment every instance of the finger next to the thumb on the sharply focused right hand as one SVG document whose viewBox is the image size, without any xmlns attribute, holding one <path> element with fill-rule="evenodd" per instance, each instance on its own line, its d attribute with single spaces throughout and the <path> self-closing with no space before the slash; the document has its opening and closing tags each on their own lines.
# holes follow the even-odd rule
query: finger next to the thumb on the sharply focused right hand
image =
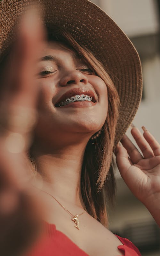
<svg viewBox="0 0 160 256">
<path fill-rule="evenodd" d="M 127 137 L 126 134 L 124 134 L 122 140 L 121 140 L 122 145 L 124 148 L 126 148 L 128 155 L 131 158 L 132 163 L 136 164 L 138 163 L 141 159 L 143 159 L 143 156 L 140 154 L 139 150 L 134 146 L 132 141 Z"/>
</svg>

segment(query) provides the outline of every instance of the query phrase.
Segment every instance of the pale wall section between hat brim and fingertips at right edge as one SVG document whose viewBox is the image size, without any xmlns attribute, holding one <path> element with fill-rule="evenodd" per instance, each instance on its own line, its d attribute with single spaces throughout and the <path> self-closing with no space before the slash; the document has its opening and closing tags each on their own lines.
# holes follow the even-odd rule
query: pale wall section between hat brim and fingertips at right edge
<svg viewBox="0 0 160 256">
<path fill-rule="evenodd" d="M 145 100 L 141 101 L 134 118 L 134 125 L 140 130 L 144 125 L 160 143 L 160 56 L 143 62 Z M 141 130 L 142 131 L 142 130 Z M 127 134 L 131 137 L 128 130 Z"/>
</svg>

